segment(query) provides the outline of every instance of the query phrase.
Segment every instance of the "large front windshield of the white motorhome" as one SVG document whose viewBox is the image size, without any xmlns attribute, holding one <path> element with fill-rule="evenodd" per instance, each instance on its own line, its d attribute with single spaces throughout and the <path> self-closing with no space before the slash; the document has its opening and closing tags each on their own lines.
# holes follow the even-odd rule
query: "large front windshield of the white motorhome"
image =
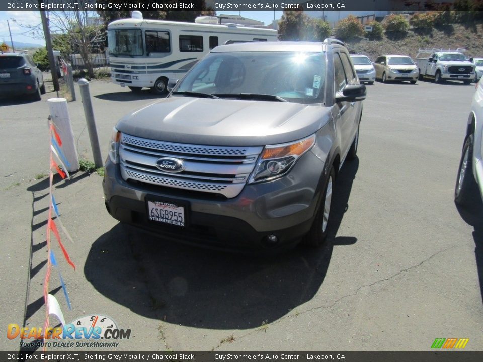
<svg viewBox="0 0 483 362">
<path fill-rule="evenodd" d="M 108 30 L 109 54 L 143 55 L 141 29 Z"/>
</svg>

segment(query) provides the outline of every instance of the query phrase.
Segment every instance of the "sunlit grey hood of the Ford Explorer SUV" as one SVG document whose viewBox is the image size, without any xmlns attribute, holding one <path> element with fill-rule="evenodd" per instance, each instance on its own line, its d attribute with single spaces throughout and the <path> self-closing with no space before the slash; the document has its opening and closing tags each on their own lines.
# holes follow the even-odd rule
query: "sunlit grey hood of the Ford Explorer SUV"
<svg viewBox="0 0 483 362">
<path fill-rule="evenodd" d="M 116 128 L 167 142 L 263 146 L 306 137 L 330 119 L 320 104 L 172 96 L 131 112 Z"/>
</svg>

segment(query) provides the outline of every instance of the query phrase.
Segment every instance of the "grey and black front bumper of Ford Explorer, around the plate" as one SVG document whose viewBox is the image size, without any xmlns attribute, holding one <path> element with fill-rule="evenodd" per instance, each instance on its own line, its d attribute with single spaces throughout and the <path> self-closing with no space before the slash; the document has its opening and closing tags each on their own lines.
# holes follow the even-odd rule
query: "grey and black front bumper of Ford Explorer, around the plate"
<svg viewBox="0 0 483 362">
<path fill-rule="evenodd" d="M 119 165 L 108 159 L 103 188 L 111 216 L 164 238 L 218 249 L 284 249 L 310 229 L 323 173 L 324 162 L 309 151 L 284 177 L 246 185 L 238 196 L 226 199 L 125 181 Z M 146 197 L 186 205 L 187 225 L 148 221 Z M 269 242 L 269 235 L 275 235 L 277 242 Z"/>
</svg>

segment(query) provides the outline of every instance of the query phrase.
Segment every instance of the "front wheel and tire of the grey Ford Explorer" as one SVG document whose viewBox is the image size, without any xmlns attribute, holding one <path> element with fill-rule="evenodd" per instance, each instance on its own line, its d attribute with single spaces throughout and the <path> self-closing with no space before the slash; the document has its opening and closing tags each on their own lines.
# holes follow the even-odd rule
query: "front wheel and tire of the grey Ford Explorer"
<svg viewBox="0 0 483 362">
<path fill-rule="evenodd" d="M 302 239 L 303 245 L 317 247 L 322 245 L 327 238 L 327 234 L 329 233 L 329 223 L 331 220 L 334 181 L 334 167 L 331 167 L 329 177 L 324 184 L 324 191 L 322 193 L 317 214 L 315 214 L 309 232 Z"/>
</svg>

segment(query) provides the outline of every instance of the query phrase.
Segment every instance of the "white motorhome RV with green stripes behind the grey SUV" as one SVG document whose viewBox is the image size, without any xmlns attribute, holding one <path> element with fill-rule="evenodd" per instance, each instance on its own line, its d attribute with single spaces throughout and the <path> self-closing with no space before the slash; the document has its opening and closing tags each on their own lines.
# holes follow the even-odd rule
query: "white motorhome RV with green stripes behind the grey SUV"
<svg viewBox="0 0 483 362">
<path fill-rule="evenodd" d="M 181 78 L 217 45 L 240 41 L 276 41 L 277 31 L 237 24 L 217 24 L 216 17 L 195 23 L 132 18 L 116 20 L 108 29 L 111 80 L 131 91 L 166 92 L 170 78 Z"/>
</svg>

